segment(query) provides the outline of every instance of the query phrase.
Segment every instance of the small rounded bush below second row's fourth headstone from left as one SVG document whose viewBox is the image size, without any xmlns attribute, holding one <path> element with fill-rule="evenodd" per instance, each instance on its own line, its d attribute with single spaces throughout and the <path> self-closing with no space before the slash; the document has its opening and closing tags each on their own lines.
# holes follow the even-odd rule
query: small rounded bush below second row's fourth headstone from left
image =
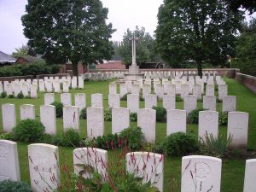
<svg viewBox="0 0 256 192">
<path fill-rule="evenodd" d="M 62 133 L 61 145 L 64 147 L 79 146 L 81 139 L 79 137 L 79 132 L 73 128 L 67 129 Z"/>
</svg>

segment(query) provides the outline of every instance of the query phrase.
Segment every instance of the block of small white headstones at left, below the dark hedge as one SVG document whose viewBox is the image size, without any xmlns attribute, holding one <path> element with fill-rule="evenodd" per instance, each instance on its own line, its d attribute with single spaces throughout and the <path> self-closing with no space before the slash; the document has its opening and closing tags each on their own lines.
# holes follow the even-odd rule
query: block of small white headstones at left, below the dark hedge
<svg viewBox="0 0 256 192">
<path fill-rule="evenodd" d="M 61 90 L 62 84 L 62 90 Z M 79 84 L 77 83 L 77 77 L 51 77 L 50 79 L 17 79 L 9 83 L 9 81 L 4 81 L 3 84 L 0 82 L 0 94 L 5 91 L 7 96 L 14 95 L 17 96 L 20 92 L 24 96 L 30 96 L 32 98 L 38 98 L 38 90 L 41 92 L 69 92 L 69 88 L 72 89 L 84 89 L 84 79 L 79 76 Z"/>
</svg>

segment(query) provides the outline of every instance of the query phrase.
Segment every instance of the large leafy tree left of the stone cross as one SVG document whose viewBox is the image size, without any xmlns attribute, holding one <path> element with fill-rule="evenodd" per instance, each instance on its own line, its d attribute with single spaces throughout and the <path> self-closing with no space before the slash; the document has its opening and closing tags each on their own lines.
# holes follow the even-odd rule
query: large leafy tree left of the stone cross
<svg viewBox="0 0 256 192">
<path fill-rule="evenodd" d="M 110 59 L 108 40 L 114 32 L 106 24 L 108 9 L 100 0 L 28 0 L 21 17 L 28 45 L 51 63 L 90 64 Z"/>
</svg>

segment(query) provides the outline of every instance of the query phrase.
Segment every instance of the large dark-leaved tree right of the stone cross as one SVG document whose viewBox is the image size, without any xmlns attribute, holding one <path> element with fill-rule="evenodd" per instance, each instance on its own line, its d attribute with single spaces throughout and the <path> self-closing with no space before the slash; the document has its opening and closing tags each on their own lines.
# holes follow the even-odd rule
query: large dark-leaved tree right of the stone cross
<svg viewBox="0 0 256 192">
<path fill-rule="evenodd" d="M 224 0 L 164 0 L 158 13 L 156 46 L 172 67 L 194 60 L 224 63 L 234 54 L 241 12 L 233 13 Z"/>
</svg>

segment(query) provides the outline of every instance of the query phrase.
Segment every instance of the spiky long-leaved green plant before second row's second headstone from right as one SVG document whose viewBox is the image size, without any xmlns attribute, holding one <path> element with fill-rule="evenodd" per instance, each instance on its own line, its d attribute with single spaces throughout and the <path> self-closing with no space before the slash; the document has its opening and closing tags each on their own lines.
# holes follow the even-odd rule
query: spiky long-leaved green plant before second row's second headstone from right
<svg viewBox="0 0 256 192">
<path fill-rule="evenodd" d="M 230 143 L 232 137 L 228 138 L 221 134 L 218 138 L 213 137 L 212 134 L 206 133 L 205 140 L 200 138 L 201 142 L 201 154 L 222 157 L 230 157 Z"/>
</svg>

